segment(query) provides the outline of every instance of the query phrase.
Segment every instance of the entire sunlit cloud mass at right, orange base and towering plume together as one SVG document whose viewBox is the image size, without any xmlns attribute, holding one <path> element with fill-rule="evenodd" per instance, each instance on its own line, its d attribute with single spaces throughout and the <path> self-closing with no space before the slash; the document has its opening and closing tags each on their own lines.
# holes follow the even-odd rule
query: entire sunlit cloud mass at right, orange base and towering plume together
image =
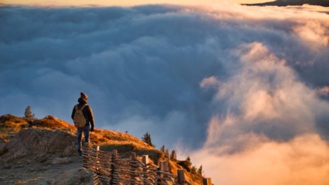
<svg viewBox="0 0 329 185">
<path fill-rule="evenodd" d="M 217 85 L 216 102 L 228 109 L 213 116 L 192 158 L 218 184 L 328 184 L 329 147 L 316 130 L 317 120 L 328 120 L 329 103 L 318 98 L 328 87 L 309 89 L 261 43 L 236 53 L 240 72 L 201 82 Z"/>
</svg>

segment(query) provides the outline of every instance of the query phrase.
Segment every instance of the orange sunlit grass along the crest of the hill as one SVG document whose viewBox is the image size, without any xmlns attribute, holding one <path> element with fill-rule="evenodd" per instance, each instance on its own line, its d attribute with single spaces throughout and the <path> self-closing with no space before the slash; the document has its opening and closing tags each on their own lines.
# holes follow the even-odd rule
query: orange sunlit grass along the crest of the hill
<svg viewBox="0 0 329 185">
<path fill-rule="evenodd" d="M 16 135 L 21 129 L 29 128 L 28 120 L 12 115 L 0 116 L 0 142 L 9 142 L 13 135 Z M 75 135 L 73 125 L 53 116 L 46 116 L 43 119 L 35 120 L 32 127 L 40 130 L 65 130 L 70 135 Z M 165 159 L 165 155 L 160 150 L 150 147 L 139 138 L 135 138 L 128 133 L 121 133 L 112 130 L 95 129 L 90 135 L 92 145 L 100 145 L 101 150 L 118 150 L 121 157 L 129 157 L 130 152 L 136 152 L 137 155 L 149 155 L 152 162 L 157 164 L 159 160 Z M 177 162 L 170 161 L 172 173 L 177 174 L 177 169 L 183 169 Z M 192 184 L 201 184 L 202 176 L 186 172 L 186 179 Z"/>
</svg>

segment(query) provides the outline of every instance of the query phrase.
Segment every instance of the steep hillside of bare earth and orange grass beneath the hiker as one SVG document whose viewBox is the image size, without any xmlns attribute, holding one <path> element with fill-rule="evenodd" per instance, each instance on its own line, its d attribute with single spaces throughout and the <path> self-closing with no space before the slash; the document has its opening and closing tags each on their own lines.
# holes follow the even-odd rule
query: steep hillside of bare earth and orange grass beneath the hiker
<svg viewBox="0 0 329 185">
<path fill-rule="evenodd" d="M 100 145 L 101 150 L 118 150 L 121 157 L 136 152 L 137 155 L 149 155 L 155 164 L 166 158 L 160 150 L 128 133 L 95 129 L 90 140 L 92 146 Z M 184 169 L 176 161 L 169 164 L 173 173 Z M 72 174 L 68 170 L 86 175 L 87 172 L 79 169 L 81 167 L 73 125 L 53 116 L 33 122 L 12 115 L 0 116 L 0 181 L 4 184 L 60 184 L 59 176 Z M 185 172 L 186 179 L 201 184 L 201 175 Z M 88 184 L 84 182 L 87 177 L 77 178 L 74 181 L 81 182 L 79 184 Z"/>
</svg>

